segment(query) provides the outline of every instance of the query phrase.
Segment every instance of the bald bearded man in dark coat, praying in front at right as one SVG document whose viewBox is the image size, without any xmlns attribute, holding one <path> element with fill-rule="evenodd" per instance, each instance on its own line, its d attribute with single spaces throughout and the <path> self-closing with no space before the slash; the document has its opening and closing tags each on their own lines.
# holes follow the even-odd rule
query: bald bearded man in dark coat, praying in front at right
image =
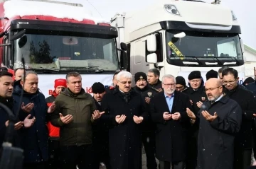
<svg viewBox="0 0 256 169">
<path fill-rule="evenodd" d="M 198 134 L 198 169 L 233 169 L 234 139 L 240 130 L 242 110 L 238 103 L 223 94 L 222 81 L 206 81 L 208 101 L 203 103 L 196 118 Z M 193 121 L 195 122 L 195 121 Z"/>
</svg>

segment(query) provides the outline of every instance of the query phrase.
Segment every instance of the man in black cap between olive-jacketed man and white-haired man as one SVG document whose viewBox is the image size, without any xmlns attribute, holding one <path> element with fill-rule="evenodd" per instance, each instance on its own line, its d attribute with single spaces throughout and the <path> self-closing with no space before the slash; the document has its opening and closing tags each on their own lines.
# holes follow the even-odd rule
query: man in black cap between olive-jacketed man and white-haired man
<svg viewBox="0 0 256 169">
<path fill-rule="evenodd" d="M 92 85 L 93 100 L 97 110 L 102 112 L 102 98 L 106 93 L 105 86 L 100 82 Z M 108 145 L 108 129 L 101 119 L 92 124 L 92 145 L 94 147 L 95 156 L 93 158 L 93 169 L 99 169 L 100 163 L 104 163 L 107 169 L 110 169 L 110 157 Z"/>
</svg>

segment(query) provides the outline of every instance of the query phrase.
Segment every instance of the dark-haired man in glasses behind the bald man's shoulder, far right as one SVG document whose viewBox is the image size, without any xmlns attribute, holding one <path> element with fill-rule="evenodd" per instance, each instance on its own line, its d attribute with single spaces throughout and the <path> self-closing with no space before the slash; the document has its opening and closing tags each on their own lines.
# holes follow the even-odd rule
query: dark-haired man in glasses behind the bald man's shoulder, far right
<svg viewBox="0 0 256 169">
<path fill-rule="evenodd" d="M 246 169 L 250 166 L 253 144 L 253 114 L 256 112 L 256 100 L 251 91 L 238 85 L 238 71 L 233 68 L 222 72 L 225 93 L 235 100 L 242 109 L 240 132 L 235 136 L 234 168 Z"/>
</svg>

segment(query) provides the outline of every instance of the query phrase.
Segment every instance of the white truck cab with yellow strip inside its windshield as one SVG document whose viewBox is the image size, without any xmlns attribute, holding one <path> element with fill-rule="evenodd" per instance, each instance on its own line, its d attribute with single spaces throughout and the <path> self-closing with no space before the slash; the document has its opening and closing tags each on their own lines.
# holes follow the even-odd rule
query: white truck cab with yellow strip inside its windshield
<svg viewBox="0 0 256 169">
<path fill-rule="evenodd" d="M 222 66 L 238 70 L 245 78 L 244 45 L 233 11 L 203 1 L 159 0 L 153 6 L 131 13 L 117 13 L 111 25 L 119 42 L 127 44 L 127 71 L 157 68 L 161 76 L 187 78 L 191 71 Z"/>
</svg>

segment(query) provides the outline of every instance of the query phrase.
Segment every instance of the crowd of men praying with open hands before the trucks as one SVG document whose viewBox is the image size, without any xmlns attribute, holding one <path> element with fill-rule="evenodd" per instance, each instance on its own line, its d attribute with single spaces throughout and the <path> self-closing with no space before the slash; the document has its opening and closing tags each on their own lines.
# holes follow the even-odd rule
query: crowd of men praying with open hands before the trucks
<svg viewBox="0 0 256 169">
<path fill-rule="evenodd" d="M 208 71 L 206 83 L 192 71 L 188 86 L 182 76 L 160 80 L 159 70 L 150 69 L 137 72 L 132 87 L 132 74 L 121 71 L 108 88 L 95 82 L 93 96 L 80 74 L 70 72 L 54 81 L 48 98 L 39 91 L 38 75 L 24 71 L 16 69 L 15 81 L 0 72 L 0 101 L 18 113 L 13 144 L 23 148 L 24 169 L 141 169 L 142 145 L 148 169 L 250 167 L 256 82 L 240 85 L 233 68 Z M 0 144 L 8 125 L 0 108 Z"/>
</svg>

